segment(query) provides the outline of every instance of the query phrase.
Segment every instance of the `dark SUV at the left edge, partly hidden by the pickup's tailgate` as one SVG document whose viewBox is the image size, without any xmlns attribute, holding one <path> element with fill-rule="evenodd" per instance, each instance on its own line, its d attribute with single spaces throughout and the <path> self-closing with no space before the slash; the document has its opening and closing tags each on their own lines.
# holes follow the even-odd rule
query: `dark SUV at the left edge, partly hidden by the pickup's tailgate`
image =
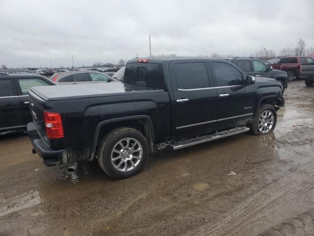
<svg viewBox="0 0 314 236">
<path fill-rule="evenodd" d="M 40 75 L 0 76 L 0 132 L 26 128 L 32 121 L 27 90 L 48 85 L 56 84 Z"/>
</svg>

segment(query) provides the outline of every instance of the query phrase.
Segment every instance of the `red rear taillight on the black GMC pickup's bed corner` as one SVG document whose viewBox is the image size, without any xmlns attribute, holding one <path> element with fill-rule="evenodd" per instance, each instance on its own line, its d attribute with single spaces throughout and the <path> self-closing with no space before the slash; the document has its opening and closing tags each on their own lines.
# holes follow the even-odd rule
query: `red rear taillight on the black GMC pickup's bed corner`
<svg viewBox="0 0 314 236">
<path fill-rule="evenodd" d="M 63 138 L 63 126 L 59 113 L 44 112 L 46 133 L 50 139 Z"/>
</svg>

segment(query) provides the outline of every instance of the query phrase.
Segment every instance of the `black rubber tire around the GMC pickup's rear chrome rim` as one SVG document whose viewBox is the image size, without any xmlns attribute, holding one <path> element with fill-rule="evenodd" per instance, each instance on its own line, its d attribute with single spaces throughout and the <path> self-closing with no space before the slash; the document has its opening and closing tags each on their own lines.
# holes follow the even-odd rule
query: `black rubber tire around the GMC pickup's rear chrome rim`
<svg viewBox="0 0 314 236">
<path fill-rule="evenodd" d="M 116 147 L 119 141 L 124 140 L 124 139 L 136 140 L 137 142 L 139 142 L 142 148 L 140 161 L 131 170 L 118 170 L 116 169 L 116 167 L 114 166 L 114 163 L 112 162 L 111 155 L 113 154 L 114 147 Z M 101 144 L 98 147 L 97 159 L 98 159 L 99 166 L 108 176 L 112 178 L 116 178 L 116 179 L 121 179 L 121 178 L 128 178 L 128 177 L 138 174 L 143 169 L 145 162 L 148 159 L 148 155 L 149 155 L 149 145 L 144 135 L 141 132 L 137 131 L 136 129 L 133 129 L 130 127 L 120 127 L 120 128 L 111 130 L 105 135 Z M 123 154 L 121 154 L 121 156 L 123 156 Z M 124 165 L 124 163 L 122 163 L 122 165 Z M 131 165 L 131 160 L 129 160 L 127 166 L 128 165 L 129 166 Z"/>
</svg>

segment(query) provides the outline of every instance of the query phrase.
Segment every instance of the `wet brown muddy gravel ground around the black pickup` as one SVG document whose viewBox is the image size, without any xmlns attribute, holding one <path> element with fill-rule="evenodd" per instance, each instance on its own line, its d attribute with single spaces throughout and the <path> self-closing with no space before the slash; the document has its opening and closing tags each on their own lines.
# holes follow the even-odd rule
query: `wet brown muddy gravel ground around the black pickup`
<svg viewBox="0 0 314 236">
<path fill-rule="evenodd" d="M 0 135 L 0 236 L 314 235 L 314 88 L 285 98 L 273 134 L 157 150 L 123 180 L 46 167 L 25 133 Z"/>
</svg>

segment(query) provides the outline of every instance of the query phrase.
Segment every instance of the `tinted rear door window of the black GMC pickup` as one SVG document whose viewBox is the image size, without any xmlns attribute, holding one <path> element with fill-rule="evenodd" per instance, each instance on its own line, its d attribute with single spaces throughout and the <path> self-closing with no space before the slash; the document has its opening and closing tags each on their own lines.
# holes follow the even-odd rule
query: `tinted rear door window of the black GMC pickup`
<svg viewBox="0 0 314 236">
<path fill-rule="evenodd" d="M 209 88 L 209 76 L 205 62 L 176 63 L 178 89 Z"/>
</svg>

